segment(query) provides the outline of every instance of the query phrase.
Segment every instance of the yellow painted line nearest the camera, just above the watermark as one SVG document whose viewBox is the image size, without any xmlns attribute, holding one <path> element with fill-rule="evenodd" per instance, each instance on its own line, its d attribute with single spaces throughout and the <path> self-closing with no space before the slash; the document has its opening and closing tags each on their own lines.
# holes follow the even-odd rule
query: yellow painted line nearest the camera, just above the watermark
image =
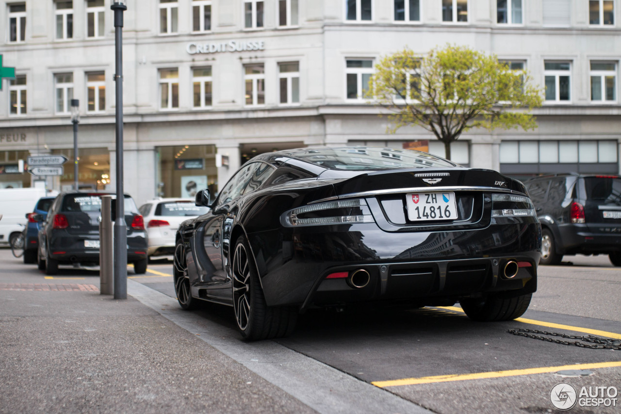
<svg viewBox="0 0 621 414">
<path fill-rule="evenodd" d="M 374 381 L 374 382 L 371 382 L 371 384 L 379 388 L 384 388 L 384 387 L 394 387 L 396 385 L 433 384 L 435 382 L 465 381 L 465 380 L 473 380 L 473 379 L 516 377 L 518 375 L 546 374 L 548 372 L 556 372 L 556 371 L 560 371 L 564 369 L 596 369 L 596 368 L 610 368 L 610 367 L 621 367 L 621 361 L 596 362 L 593 364 L 563 365 L 563 366 L 558 366 L 558 367 L 512 369 L 512 370 L 507 370 L 507 371 L 494 371 L 494 372 L 476 372 L 475 374 L 435 375 L 433 377 L 406 378 L 406 379 L 390 380 L 390 381 Z"/>
</svg>

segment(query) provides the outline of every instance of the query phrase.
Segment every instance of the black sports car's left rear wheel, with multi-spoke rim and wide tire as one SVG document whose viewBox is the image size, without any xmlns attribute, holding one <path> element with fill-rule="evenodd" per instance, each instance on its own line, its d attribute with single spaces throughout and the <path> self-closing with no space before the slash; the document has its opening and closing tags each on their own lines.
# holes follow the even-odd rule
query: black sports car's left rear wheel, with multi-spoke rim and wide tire
<svg viewBox="0 0 621 414">
<path fill-rule="evenodd" d="M 245 236 L 235 242 L 231 269 L 235 322 L 243 339 L 255 341 L 291 334 L 296 326 L 297 309 L 267 306 Z"/>
</svg>

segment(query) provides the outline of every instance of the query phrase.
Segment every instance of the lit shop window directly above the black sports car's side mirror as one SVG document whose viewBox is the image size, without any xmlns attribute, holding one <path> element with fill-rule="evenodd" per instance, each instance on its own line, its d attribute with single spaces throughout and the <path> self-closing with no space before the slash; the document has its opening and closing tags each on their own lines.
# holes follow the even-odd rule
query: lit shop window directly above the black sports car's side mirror
<svg viewBox="0 0 621 414">
<path fill-rule="evenodd" d="M 215 145 L 174 145 L 156 148 L 157 195 L 194 198 L 197 191 L 218 188 Z"/>
</svg>

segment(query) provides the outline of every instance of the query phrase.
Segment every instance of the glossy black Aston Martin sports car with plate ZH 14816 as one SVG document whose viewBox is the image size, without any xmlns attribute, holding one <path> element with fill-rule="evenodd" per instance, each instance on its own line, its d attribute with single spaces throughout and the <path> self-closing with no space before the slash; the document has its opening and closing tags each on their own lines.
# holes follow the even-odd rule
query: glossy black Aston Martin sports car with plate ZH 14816
<svg viewBox="0 0 621 414">
<path fill-rule="evenodd" d="M 258 155 L 176 235 L 179 304 L 233 306 L 243 338 L 285 336 L 311 306 L 453 305 L 522 315 L 541 226 L 524 185 L 424 152 L 321 147 Z"/>
</svg>

